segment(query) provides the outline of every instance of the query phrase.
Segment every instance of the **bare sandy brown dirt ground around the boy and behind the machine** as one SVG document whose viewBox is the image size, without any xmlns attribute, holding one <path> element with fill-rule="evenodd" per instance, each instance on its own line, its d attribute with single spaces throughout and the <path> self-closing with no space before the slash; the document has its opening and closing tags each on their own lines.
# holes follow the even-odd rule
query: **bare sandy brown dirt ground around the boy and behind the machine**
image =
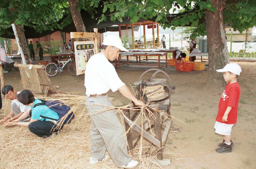
<svg viewBox="0 0 256 169">
<path fill-rule="evenodd" d="M 20 61 L 18 58 L 14 60 Z M 232 153 L 226 154 L 215 152 L 217 144 L 222 142 L 223 138 L 214 133 L 218 103 L 223 89 L 204 89 L 208 78 L 207 69 L 202 72 L 188 73 L 177 72 L 170 66 L 163 69 L 170 75 L 173 86 L 176 86 L 171 94 L 171 110 L 174 123 L 180 128 L 179 133 L 170 133 L 167 141 L 168 148 L 164 150 L 165 155 L 172 157 L 172 163 L 167 168 L 256 168 L 256 63 L 237 63 L 241 66 L 242 73 L 238 77 L 241 88 L 238 119 L 231 132 L 231 139 L 235 146 Z M 129 83 L 138 81 L 142 72 L 150 68 L 121 66 L 116 71 L 120 79 L 129 86 Z M 157 77 L 165 78 L 163 75 Z M 17 69 L 4 74 L 4 79 L 6 84 L 12 85 L 17 91 L 22 90 Z M 61 91 L 85 95 L 84 75 L 74 77 L 64 69 L 63 73 L 58 73 L 50 79 L 54 85 L 60 86 Z M 109 91 L 108 95 L 114 97 L 112 100 L 114 106 L 129 103 L 120 92 Z M 1 130 L 11 129 L 1 127 Z M 31 136 L 36 139 L 35 135 Z M 5 141 L 8 142 L 8 140 Z M 1 146 L 3 145 L 4 143 L 1 142 Z M 8 163 L 12 162 L 5 161 L 5 165 Z M 0 168 L 5 168 L 1 164 L 3 162 L 0 162 Z M 66 166 L 66 168 L 73 167 Z"/>
</svg>

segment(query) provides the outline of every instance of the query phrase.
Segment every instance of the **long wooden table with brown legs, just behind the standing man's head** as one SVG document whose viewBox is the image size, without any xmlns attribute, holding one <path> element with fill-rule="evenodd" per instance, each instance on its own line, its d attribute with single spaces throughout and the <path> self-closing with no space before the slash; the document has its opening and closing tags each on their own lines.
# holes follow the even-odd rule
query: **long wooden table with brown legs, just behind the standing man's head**
<svg viewBox="0 0 256 169">
<path fill-rule="evenodd" d="M 126 56 L 126 63 L 120 63 L 120 59 L 121 56 Z M 129 63 L 129 56 L 134 56 L 136 57 L 136 63 Z M 120 67 L 121 65 L 127 64 L 127 65 L 140 65 L 140 66 L 156 66 L 156 64 L 149 64 L 149 63 L 141 63 L 141 56 L 146 56 L 146 59 L 142 59 L 143 60 L 156 60 L 158 61 L 158 69 L 160 69 L 160 67 L 167 67 L 167 52 L 119 52 L 119 56 L 118 56 L 118 64 L 117 64 L 117 59 L 115 59 L 115 67 L 117 68 Z M 158 59 L 148 59 L 148 56 L 158 56 Z M 165 56 L 165 59 L 160 59 L 161 56 Z M 139 57 L 139 63 L 138 63 L 138 57 Z M 160 61 L 165 61 L 164 65 L 160 64 Z"/>
</svg>

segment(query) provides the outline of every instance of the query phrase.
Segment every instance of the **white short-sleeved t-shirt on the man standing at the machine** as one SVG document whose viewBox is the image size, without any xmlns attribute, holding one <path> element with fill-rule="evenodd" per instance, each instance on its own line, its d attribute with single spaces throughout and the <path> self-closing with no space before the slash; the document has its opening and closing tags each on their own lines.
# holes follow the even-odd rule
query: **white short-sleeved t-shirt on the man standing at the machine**
<svg viewBox="0 0 256 169">
<path fill-rule="evenodd" d="M 86 95 L 115 92 L 125 84 L 118 77 L 114 66 L 102 54 L 93 55 L 85 70 L 84 86 Z"/>
</svg>

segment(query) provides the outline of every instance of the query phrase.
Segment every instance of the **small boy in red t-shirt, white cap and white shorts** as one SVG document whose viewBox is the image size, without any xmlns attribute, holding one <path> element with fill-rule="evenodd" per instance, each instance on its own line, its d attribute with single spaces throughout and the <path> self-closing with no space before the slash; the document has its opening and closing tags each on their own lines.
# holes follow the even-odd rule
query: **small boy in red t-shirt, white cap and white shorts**
<svg viewBox="0 0 256 169">
<path fill-rule="evenodd" d="M 228 82 L 220 98 L 219 111 L 214 125 L 215 133 L 223 135 L 223 142 L 216 148 L 218 153 L 231 153 L 234 143 L 231 140 L 231 129 L 237 123 L 238 101 L 240 96 L 240 86 L 237 76 L 242 72 L 237 63 L 229 63 L 223 69 L 216 70 L 223 72 L 223 77 Z"/>
</svg>

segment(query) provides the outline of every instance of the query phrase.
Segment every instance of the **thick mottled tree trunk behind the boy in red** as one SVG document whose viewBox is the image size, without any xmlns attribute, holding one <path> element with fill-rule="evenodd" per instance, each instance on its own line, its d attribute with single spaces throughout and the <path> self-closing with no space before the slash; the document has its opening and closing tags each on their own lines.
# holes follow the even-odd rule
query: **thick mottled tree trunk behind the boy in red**
<svg viewBox="0 0 256 169">
<path fill-rule="evenodd" d="M 209 75 L 206 87 L 208 89 L 224 88 L 226 85 L 223 74 L 216 71 L 217 69 L 222 69 L 229 63 L 223 21 L 223 10 L 226 1 L 212 0 L 211 2 L 216 12 L 206 10 L 206 34 L 209 52 Z"/>
</svg>

